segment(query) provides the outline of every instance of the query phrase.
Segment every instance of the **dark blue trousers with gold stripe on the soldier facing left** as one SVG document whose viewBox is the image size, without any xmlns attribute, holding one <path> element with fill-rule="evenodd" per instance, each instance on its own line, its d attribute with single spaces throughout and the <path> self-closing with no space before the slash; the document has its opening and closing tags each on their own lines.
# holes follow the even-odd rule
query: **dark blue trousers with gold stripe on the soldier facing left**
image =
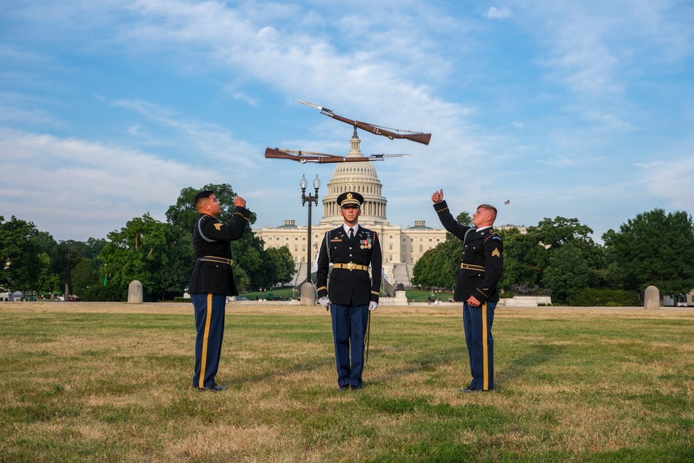
<svg viewBox="0 0 694 463">
<path fill-rule="evenodd" d="M 491 337 L 491 323 L 494 321 L 496 301 L 471 307 L 463 303 L 463 326 L 465 342 L 470 355 L 471 386 L 491 391 L 494 389 L 494 339 Z"/>
</svg>

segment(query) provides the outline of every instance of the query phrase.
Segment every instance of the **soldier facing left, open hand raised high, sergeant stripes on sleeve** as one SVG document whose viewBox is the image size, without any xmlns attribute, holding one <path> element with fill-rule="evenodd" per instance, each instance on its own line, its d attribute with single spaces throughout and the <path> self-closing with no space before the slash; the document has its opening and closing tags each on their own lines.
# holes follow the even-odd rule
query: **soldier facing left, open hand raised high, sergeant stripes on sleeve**
<svg viewBox="0 0 694 463">
<path fill-rule="evenodd" d="M 504 245 L 493 230 L 496 208 L 482 204 L 473 214 L 474 227 L 458 224 L 443 201 L 443 190 L 432 195 L 443 228 L 463 240 L 463 255 L 453 299 L 463 302 L 465 342 L 473 380 L 460 392 L 494 389 L 494 340 L 491 324 L 499 301 L 496 285 L 504 270 Z"/>
</svg>

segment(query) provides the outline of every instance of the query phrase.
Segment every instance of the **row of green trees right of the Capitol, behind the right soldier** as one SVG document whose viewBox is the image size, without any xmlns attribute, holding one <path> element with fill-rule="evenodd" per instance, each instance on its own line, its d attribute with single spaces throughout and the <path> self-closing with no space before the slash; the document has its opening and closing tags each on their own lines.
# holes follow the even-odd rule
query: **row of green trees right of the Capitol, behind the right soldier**
<svg viewBox="0 0 694 463">
<path fill-rule="evenodd" d="M 459 223 L 471 226 L 467 212 Z M 661 294 L 694 288 L 694 224 L 683 211 L 662 209 L 637 214 L 596 243 L 578 219 L 545 218 L 537 226 L 498 230 L 504 242 L 504 273 L 499 287 L 547 291 L 569 305 L 638 305 L 638 294 L 654 285 Z M 412 269 L 412 283 L 452 287 L 460 267 L 462 241 L 450 233 Z"/>
</svg>

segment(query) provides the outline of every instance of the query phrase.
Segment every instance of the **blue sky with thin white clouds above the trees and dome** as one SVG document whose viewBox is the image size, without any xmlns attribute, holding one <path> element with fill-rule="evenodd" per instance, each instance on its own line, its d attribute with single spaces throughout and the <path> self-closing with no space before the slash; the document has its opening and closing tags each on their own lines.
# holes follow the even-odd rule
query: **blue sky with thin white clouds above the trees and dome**
<svg viewBox="0 0 694 463">
<path fill-rule="evenodd" d="M 432 133 L 359 131 L 362 153 L 412 154 L 375 163 L 391 224 L 440 226 L 443 188 L 456 214 L 599 241 L 693 212 L 692 24 L 691 0 L 0 0 L 0 215 L 101 238 L 230 183 L 255 227 L 305 225 L 299 180 L 322 197 L 335 165 L 264 149 L 344 155 L 353 129 L 302 99 Z"/>
</svg>

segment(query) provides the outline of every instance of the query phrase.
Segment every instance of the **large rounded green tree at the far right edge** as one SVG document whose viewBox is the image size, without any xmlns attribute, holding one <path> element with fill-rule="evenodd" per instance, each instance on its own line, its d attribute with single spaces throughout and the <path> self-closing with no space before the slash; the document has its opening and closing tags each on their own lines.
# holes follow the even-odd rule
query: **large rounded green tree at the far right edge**
<svg viewBox="0 0 694 463">
<path fill-rule="evenodd" d="M 694 287 L 694 225 L 686 212 L 643 212 L 602 239 L 613 283 L 621 289 L 654 285 L 661 294 L 680 294 Z"/>
</svg>

